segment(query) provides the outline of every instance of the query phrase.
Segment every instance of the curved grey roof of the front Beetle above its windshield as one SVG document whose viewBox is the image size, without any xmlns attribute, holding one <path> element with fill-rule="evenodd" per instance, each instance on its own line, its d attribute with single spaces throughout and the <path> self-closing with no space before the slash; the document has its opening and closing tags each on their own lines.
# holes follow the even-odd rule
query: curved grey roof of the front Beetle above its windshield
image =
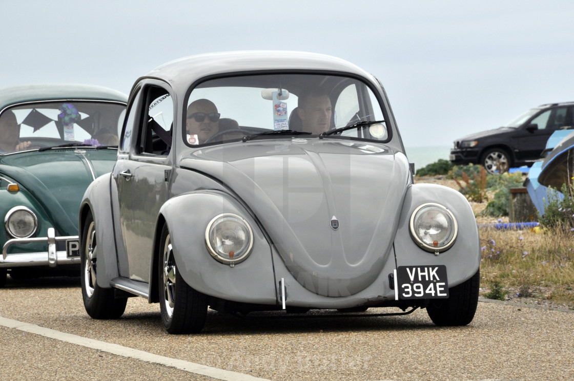
<svg viewBox="0 0 574 381">
<path fill-rule="evenodd" d="M 369 73 L 345 60 L 317 53 L 287 50 L 245 50 L 183 57 L 160 65 L 145 77 L 165 80 L 177 91 L 185 91 L 193 81 L 205 76 L 270 70 L 346 72 L 374 81 L 374 77 Z"/>
</svg>

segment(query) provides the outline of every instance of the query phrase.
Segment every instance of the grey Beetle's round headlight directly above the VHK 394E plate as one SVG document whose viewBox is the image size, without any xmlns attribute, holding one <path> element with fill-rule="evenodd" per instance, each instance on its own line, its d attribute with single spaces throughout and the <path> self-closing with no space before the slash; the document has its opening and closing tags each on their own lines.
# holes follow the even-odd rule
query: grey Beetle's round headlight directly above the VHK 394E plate
<svg viewBox="0 0 574 381">
<path fill-rule="evenodd" d="M 439 204 L 422 204 L 410 216 L 410 235 L 427 251 L 447 250 L 455 243 L 457 231 L 455 216 Z"/>
</svg>

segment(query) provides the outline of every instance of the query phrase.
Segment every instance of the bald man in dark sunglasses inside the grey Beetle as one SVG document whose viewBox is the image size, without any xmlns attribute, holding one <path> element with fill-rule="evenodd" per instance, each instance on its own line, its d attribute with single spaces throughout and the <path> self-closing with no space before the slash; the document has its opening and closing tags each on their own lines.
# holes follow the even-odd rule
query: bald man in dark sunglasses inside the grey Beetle
<svg viewBox="0 0 574 381">
<path fill-rule="evenodd" d="M 203 144 L 219 131 L 219 112 L 211 100 L 197 99 L 187 107 L 187 134 L 190 144 Z"/>
</svg>

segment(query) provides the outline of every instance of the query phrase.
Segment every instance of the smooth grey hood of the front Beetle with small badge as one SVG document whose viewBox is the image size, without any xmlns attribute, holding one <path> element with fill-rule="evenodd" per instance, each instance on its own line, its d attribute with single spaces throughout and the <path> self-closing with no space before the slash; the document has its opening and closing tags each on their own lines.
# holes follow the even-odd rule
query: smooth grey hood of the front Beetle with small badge
<svg viewBox="0 0 574 381">
<path fill-rule="evenodd" d="M 294 278 L 332 297 L 355 294 L 379 276 L 411 181 L 404 154 L 340 139 L 208 147 L 180 165 L 231 188 Z"/>
</svg>

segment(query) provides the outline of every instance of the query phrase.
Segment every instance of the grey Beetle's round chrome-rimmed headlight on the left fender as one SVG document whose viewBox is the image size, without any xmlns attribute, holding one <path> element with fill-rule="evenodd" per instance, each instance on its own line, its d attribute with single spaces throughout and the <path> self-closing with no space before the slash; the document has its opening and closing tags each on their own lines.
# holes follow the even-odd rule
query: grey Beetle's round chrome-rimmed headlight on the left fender
<svg viewBox="0 0 574 381">
<path fill-rule="evenodd" d="M 222 263 L 245 261 L 253 247 L 253 231 L 242 217 L 226 213 L 207 225 L 205 242 L 210 254 Z"/>
</svg>

